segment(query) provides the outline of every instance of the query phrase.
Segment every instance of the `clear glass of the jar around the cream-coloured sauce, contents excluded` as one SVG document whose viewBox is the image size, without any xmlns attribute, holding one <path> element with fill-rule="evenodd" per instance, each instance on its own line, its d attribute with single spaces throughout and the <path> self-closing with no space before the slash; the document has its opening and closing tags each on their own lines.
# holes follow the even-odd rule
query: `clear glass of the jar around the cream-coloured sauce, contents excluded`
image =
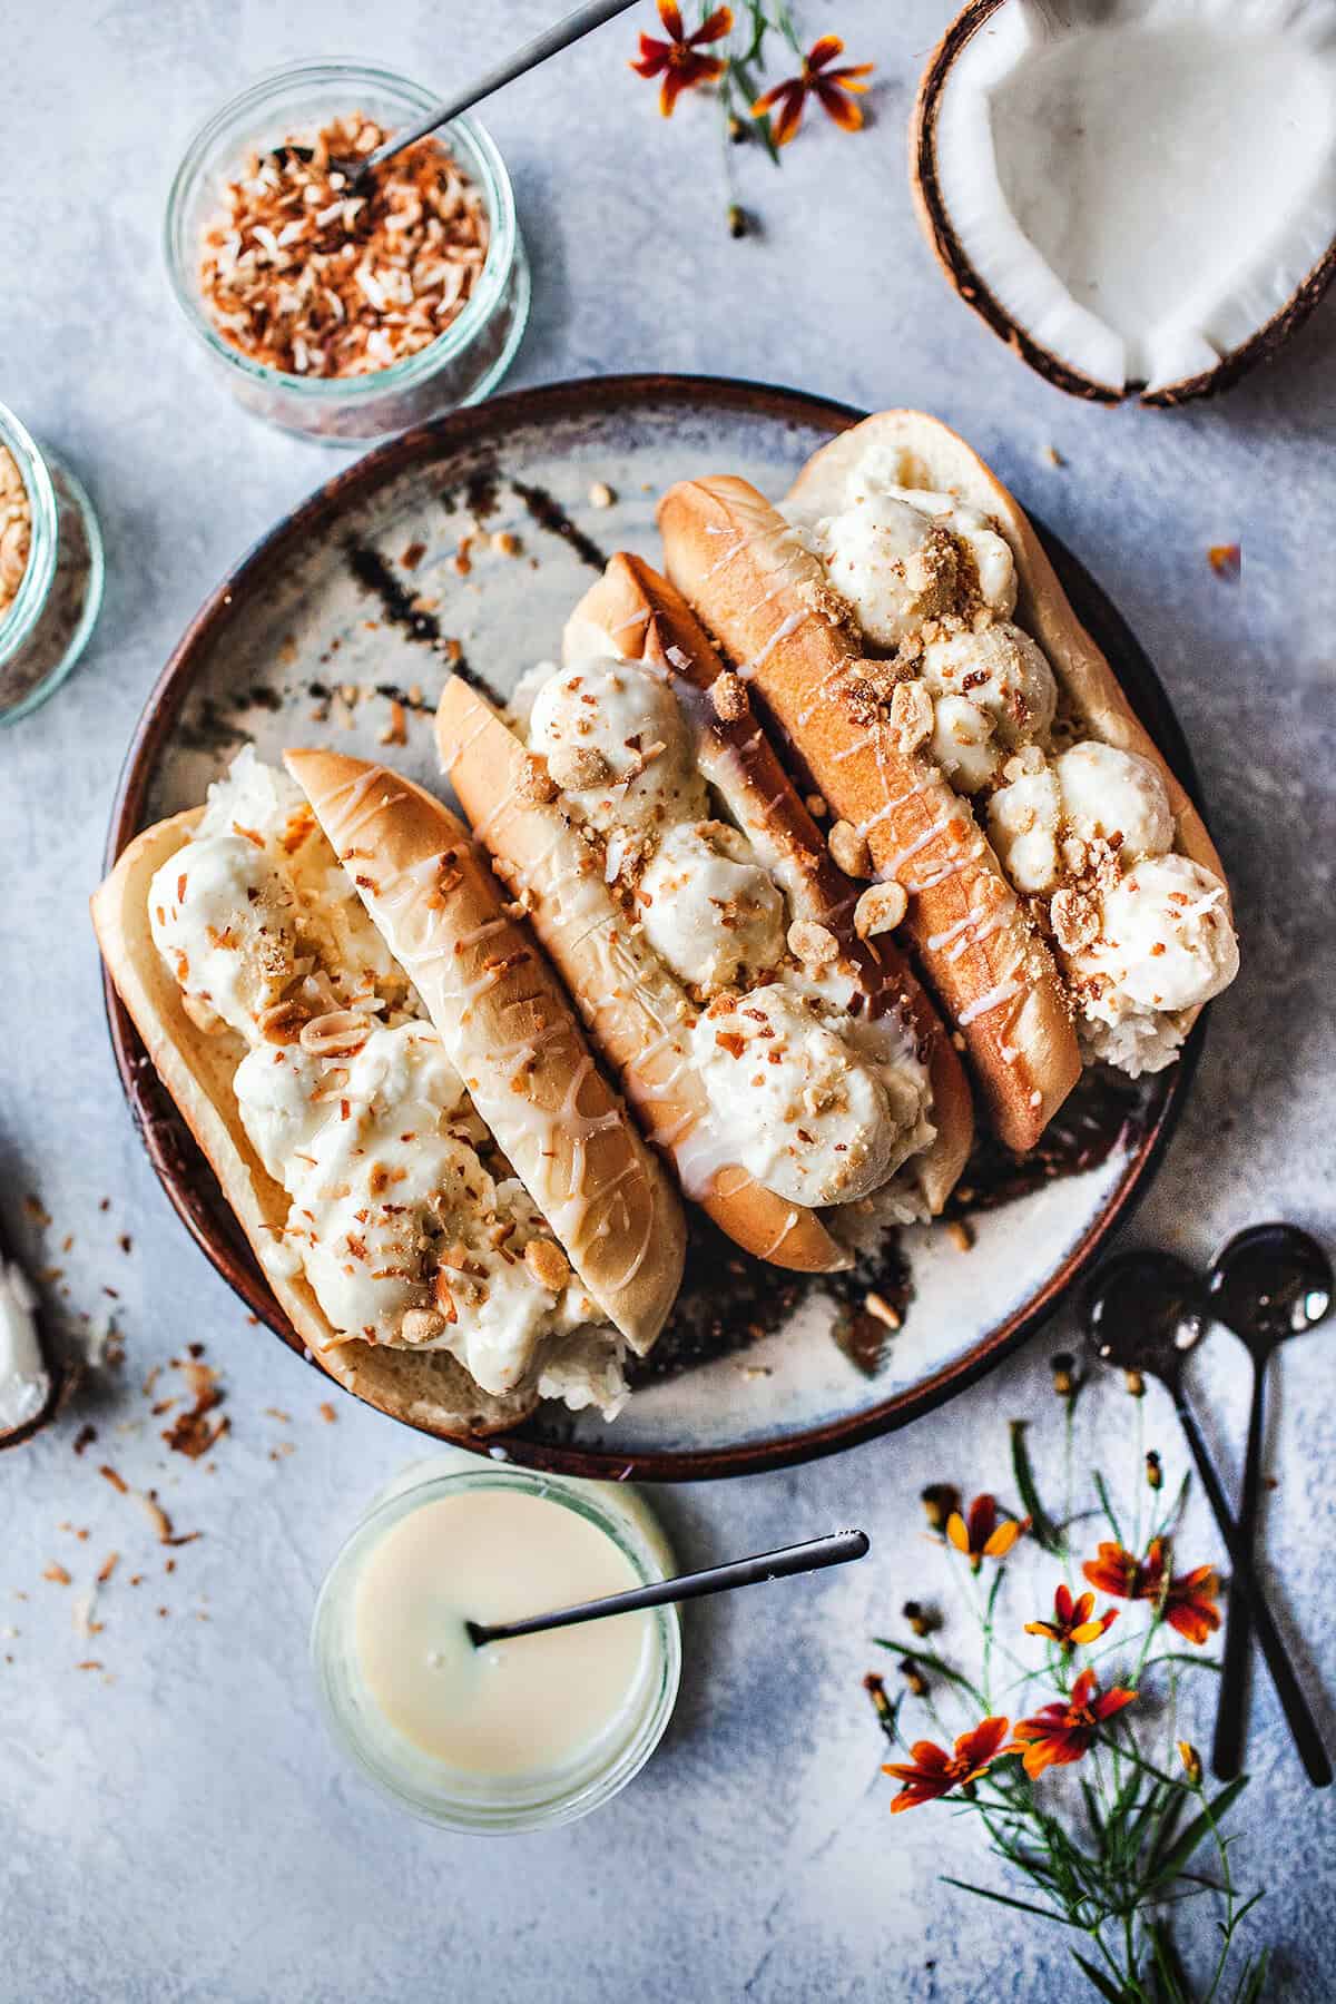
<svg viewBox="0 0 1336 2004">
<path fill-rule="evenodd" d="M 339 1745 L 387 1796 L 427 1822 L 477 1836 L 509 1836 L 571 1824 L 619 1794 L 657 1747 L 681 1677 L 677 1607 L 645 1619 L 645 1647 L 635 1685 L 617 1717 L 563 1764 L 521 1776 L 477 1776 L 449 1768 L 387 1721 L 363 1679 L 355 1647 L 355 1599 L 365 1561 L 411 1511 L 479 1489 L 511 1489 L 575 1511 L 601 1531 L 645 1585 L 673 1569 L 669 1545 L 635 1491 L 533 1475 L 511 1465 L 479 1467 L 453 1455 L 419 1463 L 371 1507 L 335 1559 L 314 1609 L 310 1657 L 322 1709 Z M 447 1469 L 447 1473 L 441 1473 Z"/>
</svg>

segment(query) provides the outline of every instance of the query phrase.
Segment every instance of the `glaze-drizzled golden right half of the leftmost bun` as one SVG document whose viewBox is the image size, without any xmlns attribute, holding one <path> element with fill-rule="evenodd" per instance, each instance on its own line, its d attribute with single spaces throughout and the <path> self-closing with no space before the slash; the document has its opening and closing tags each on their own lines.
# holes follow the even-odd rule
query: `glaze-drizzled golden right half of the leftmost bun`
<svg viewBox="0 0 1336 2004">
<path fill-rule="evenodd" d="M 677 1299 L 681 1204 L 467 828 L 411 780 L 286 752 L 335 854 L 571 1265 L 645 1355 Z"/>
</svg>

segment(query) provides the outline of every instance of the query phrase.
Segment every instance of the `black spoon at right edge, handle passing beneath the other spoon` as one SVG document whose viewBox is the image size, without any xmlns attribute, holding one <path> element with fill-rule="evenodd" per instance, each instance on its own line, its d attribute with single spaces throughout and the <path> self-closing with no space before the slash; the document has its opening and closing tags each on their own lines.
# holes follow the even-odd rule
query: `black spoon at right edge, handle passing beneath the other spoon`
<svg viewBox="0 0 1336 2004">
<path fill-rule="evenodd" d="M 1252 1407 L 1248 1453 L 1238 1505 L 1240 1535 L 1252 1549 L 1262 1503 L 1262 1441 L 1266 1433 L 1266 1367 L 1286 1337 L 1316 1329 L 1332 1313 L 1332 1263 L 1298 1224 L 1252 1224 L 1230 1238 L 1208 1277 L 1210 1305 L 1252 1353 Z M 1220 1663 L 1220 1709 L 1212 1768 L 1222 1782 L 1244 1764 L 1248 1715 L 1248 1643 L 1252 1601 L 1230 1593 L 1230 1617 Z"/>
</svg>

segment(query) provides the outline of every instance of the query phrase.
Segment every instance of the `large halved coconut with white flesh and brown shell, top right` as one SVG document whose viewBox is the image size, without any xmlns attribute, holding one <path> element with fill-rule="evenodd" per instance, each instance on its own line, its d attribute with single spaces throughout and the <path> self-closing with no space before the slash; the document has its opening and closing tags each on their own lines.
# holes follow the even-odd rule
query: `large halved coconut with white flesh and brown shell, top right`
<svg viewBox="0 0 1336 2004">
<path fill-rule="evenodd" d="M 1336 0 L 973 0 L 909 148 L 951 285 L 1052 383 L 1228 389 L 1336 271 Z"/>
</svg>

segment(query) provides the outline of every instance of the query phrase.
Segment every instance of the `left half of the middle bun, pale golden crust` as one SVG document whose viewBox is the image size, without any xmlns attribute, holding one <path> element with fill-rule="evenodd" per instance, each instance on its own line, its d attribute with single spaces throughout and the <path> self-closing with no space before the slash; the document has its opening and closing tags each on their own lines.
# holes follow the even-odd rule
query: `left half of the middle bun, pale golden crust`
<svg viewBox="0 0 1336 2004">
<path fill-rule="evenodd" d="M 535 932 L 689 1194 L 759 1259 L 801 1273 L 845 1267 L 847 1255 L 811 1210 L 783 1202 L 717 1150 L 701 1152 L 709 1100 L 681 1036 L 695 1010 L 657 954 L 627 928 L 597 852 L 555 800 L 525 792 L 539 762 L 459 675 L 441 695 L 437 743 L 475 836 L 503 882 L 533 902 Z"/>
</svg>

